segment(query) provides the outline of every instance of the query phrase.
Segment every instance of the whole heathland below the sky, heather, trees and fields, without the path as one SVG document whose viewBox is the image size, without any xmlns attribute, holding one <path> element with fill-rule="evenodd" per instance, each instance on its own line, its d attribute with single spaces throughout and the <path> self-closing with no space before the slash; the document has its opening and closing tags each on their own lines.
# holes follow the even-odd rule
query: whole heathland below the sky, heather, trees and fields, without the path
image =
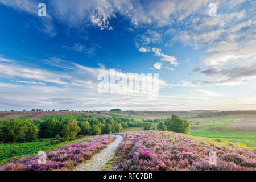
<svg viewBox="0 0 256 182">
<path fill-rule="evenodd" d="M 8 169 L 28 169 L 27 163 L 31 164 L 29 169 L 36 170 L 73 169 L 77 164 L 92 158 L 95 152 L 105 148 L 114 140 L 113 134 L 119 133 L 124 140 L 119 144 L 115 160 L 109 164 L 111 169 L 135 169 L 135 164 L 137 169 L 153 170 L 183 167 L 189 170 L 255 169 L 255 117 L 256 111 L 0 112 L 0 165 L 9 161 Z M 100 138 L 88 137 L 89 135 L 99 135 Z M 155 137 L 155 142 L 159 140 L 162 143 L 160 148 L 157 147 L 158 142 L 152 143 L 152 136 Z M 85 143 L 88 146 L 85 147 Z M 97 143 L 98 148 L 90 148 L 90 144 L 94 146 Z M 53 159 L 48 156 L 51 151 L 69 150 L 71 144 L 81 145 L 81 155 L 78 155 L 79 152 L 72 154 L 70 158 L 61 159 L 60 156 Z M 224 154 L 224 150 L 228 153 Z M 48 152 L 47 156 L 51 158 L 48 167 L 36 167 L 35 160 L 39 151 Z M 210 151 L 217 152 L 222 165 L 206 164 L 205 160 L 208 159 Z M 159 154 L 164 155 L 159 158 Z M 168 164 L 161 161 L 162 158 Z M 143 164 L 138 166 L 137 163 L 141 162 Z M 162 167 L 159 168 L 158 164 Z"/>
</svg>

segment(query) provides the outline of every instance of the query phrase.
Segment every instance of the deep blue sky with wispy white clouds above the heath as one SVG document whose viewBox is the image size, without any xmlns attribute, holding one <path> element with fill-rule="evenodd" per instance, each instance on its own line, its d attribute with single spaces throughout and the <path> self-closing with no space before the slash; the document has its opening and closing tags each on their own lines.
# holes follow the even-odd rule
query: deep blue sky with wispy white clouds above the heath
<svg viewBox="0 0 256 182">
<path fill-rule="evenodd" d="M 1 111 L 256 109 L 256 1 L 0 0 L 0 17 Z M 99 93 L 110 69 L 158 73 L 158 98 Z"/>
</svg>

